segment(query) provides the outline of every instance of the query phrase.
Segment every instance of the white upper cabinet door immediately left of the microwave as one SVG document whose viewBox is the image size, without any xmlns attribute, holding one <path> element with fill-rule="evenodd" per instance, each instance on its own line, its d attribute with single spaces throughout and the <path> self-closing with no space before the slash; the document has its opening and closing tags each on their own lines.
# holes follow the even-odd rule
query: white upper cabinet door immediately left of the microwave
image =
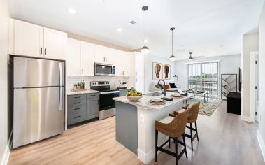
<svg viewBox="0 0 265 165">
<path fill-rule="evenodd" d="M 83 76 L 94 76 L 94 44 L 81 43 L 81 69 Z"/>
</svg>

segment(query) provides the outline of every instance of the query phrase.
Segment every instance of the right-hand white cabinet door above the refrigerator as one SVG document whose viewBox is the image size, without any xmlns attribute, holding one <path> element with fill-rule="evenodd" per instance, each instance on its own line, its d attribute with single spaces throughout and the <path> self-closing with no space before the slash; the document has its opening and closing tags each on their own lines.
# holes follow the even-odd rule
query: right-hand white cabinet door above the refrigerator
<svg viewBox="0 0 265 165">
<path fill-rule="evenodd" d="M 44 28 L 44 57 L 65 59 L 67 34 L 62 31 Z"/>
</svg>

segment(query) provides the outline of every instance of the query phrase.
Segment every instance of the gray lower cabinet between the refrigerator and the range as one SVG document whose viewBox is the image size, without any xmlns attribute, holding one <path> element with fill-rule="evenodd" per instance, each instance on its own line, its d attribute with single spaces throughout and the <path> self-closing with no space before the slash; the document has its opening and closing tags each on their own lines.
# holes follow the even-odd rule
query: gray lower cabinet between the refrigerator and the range
<svg viewBox="0 0 265 165">
<path fill-rule="evenodd" d="M 99 117 L 99 94 L 67 96 L 67 124 L 76 124 Z"/>
</svg>

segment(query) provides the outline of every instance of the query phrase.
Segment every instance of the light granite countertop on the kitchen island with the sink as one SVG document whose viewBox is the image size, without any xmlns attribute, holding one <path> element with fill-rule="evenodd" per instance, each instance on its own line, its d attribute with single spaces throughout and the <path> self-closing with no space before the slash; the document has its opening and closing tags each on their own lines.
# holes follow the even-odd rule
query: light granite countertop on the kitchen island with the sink
<svg viewBox="0 0 265 165">
<path fill-rule="evenodd" d="M 161 92 L 159 92 L 161 93 Z M 193 96 L 193 94 L 188 94 L 187 96 L 180 96 L 180 97 L 173 97 L 171 96 L 171 94 L 174 94 L 175 92 L 166 92 L 166 97 L 172 97 L 173 101 L 166 101 L 166 104 L 163 105 L 155 105 L 153 103 L 150 103 L 151 99 L 155 99 L 155 98 L 162 98 L 163 95 L 161 96 L 147 96 L 145 94 L 143 94 L 142 99 L 138 100 L 138 101 L 129 101 L 129 99 L 127 99 L 126 96 L 120 96 L 120 97 L 115 97 L 113 98 L 113 100 L 115 101 L 120 101 L 122 103 L 128 103 L 134 106 L 139 106 L 141 108 L 148 108 L 148 109 L 153 109 L 153 110 L 161 110 L 163 108 L 166 108 L 167 106 L 171 106 L 175 103 L 179 103 L 181 101 L 185 101 L 186 99 L 189 99 L 190 97 Z M 176 94 L 176 93 L 175 93 Z"/>
</svg>

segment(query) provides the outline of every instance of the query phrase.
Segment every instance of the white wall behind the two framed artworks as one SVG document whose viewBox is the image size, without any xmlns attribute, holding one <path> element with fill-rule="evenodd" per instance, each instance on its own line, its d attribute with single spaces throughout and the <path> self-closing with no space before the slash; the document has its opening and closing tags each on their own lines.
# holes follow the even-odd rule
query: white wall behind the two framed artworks
<svg viewBox="0 0 265 165">
<path fill-rule="evenodd" d="M 153 55 L 146 55 L 145 57 L 145 93 L 150 92 L 150 85 L 153 82 L 157 82 L 158 80 L 152 79 L 152 62 L 159 62 L 162 64 L 170 64 L 171 65 L 171 80 L 166 80 L 166 82 L 175 82 L 173 76 L 175 75 L 175 63 L 171 62 L 168 58 L 157 57 Z"/>
</svg>

